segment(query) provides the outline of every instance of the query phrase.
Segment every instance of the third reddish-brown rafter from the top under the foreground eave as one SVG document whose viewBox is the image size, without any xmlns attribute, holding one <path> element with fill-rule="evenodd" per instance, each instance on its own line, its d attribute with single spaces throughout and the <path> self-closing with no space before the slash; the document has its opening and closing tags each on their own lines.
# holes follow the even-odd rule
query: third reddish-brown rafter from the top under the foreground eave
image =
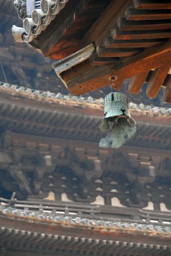
<svg viewBox="0 0 171 256">
<path fill-rule="evenodd" d="M 121 31 L 171 29 L 170 20 L 126 20 L 120 17 L 117 25 Z"/>
</svg>

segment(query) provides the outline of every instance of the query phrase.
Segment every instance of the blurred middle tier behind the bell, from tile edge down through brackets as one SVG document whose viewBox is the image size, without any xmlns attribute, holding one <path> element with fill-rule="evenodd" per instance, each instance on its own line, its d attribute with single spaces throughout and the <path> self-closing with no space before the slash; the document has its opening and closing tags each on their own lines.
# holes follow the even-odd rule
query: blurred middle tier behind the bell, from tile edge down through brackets
<svg viewBox="0 0 171 256">
<path fill-rule="evenodd" d="M 126 206 L 146 207 L 153 200 L 155 207 L 164 202 L 170 209 L 170 108 L 130 102 L 138 132 L 112 150 L 98 146 L 103 99 L 1 83 L 0 100 L 2 193 L 34 200 L 51 192 L 61 200 L 66 193 L 76 202 L 105 196 L 107 204 L 119 196 Z M 101 188 L 95 179 L 103 180 Z"/>
</svg>

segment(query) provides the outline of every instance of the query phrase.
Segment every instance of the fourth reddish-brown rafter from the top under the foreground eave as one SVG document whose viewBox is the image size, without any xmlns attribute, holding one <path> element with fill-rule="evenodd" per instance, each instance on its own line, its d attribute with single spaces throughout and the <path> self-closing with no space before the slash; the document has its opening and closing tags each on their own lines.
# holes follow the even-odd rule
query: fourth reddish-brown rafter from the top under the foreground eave
<svg viewBox="0 0 171 256">
<path fill-rule="evenodd" d="M 118 28 L 115 28 L 112 29 L 111 35 L 114 40 L 171 38 L 171 29 L 148 31 L 120 31 Z"/>
</svg>

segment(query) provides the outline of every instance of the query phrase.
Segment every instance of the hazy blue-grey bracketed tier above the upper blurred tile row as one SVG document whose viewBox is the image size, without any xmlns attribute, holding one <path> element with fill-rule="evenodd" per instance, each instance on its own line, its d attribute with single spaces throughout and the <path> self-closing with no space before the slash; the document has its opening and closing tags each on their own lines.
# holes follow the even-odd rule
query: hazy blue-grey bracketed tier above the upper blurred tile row
<svg viewBox="0 0 171 256">
<path fill-rule="evenodd" d="M 0 61 L 6 74 L 6 81 L 35 90 L 68 94 L 68 90 L 57 79 L 54 70 L 52 70 L 52 61 L 50 59 L 45 58 L 41 52 L 34 51 L 31 45 L 20 44 L 13 40 L 11 25 L 21 26 L 22 22 L 15 13 L 12 1 L 0 0 L 0 3 L 0 20 L 2 24 L 0 28 Z M 6 8 L 6 4 L 8 4 L 8 8 Z M 0 81 L 5 81 L 2 70 L 0 71 Z M 144 85 L 138 95 L 133 95 L 128 92 L 128 83 L 128 80 L 124 81 L 121 92 L 126 93 L 130 101 L 137 104 L 143 102 L 145 105 L 153 104 L 154 106 L 170 108 L 169 104 L 163 102 L 164 88 L 161 88 L 158 97 L 148 99 L 145 93 L 146 85 Z M 98 99 L 105 97 L 108 92 L 110 92 L 110 88 L 105 87 L 94 92 L 84 93 L 84 97 L 91 95 L 91 97 Z"/>
</svg>

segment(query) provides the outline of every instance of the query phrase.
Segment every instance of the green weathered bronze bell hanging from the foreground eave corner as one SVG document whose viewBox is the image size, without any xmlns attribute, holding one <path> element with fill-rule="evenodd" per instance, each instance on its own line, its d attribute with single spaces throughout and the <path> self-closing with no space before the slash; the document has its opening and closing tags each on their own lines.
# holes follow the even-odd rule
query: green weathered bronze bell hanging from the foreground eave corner
<svg viewBox="0 0 171 256">
<path fill-rule="evenodd" d="M 105 97 L 104 118 L 100 130 L 110 132 L 100 140 L 100 147 L 119 148 L 135 135 L 137 129 L 136 122 L 130 115 L 127 96 L 119 92 L 109 93 Z"/>
</svg>

